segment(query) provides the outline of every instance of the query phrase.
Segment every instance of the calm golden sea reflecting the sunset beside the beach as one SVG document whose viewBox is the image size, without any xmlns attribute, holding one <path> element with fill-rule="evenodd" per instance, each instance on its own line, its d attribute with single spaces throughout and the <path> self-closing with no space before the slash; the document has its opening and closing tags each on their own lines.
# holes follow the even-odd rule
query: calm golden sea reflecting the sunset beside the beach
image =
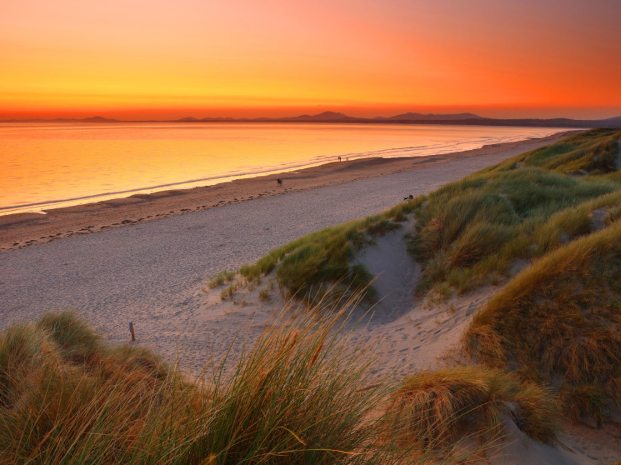
<svg viewBox="0 0 621 465">
<path fill-rule="evenodd" d="M 555 128 L 277 123 L 3 123 L 0 214 L 319 165 L 428 156 Z"/>
</svg>

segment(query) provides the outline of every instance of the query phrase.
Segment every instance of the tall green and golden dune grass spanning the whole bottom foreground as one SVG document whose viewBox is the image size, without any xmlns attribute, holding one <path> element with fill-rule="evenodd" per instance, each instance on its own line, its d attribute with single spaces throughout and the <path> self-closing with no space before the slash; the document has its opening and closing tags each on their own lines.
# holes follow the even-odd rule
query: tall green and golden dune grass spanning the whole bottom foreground
<svg viewBox="0 0 621 465">
<path fill-rule="evenodd" d="M 506 402 L 526 433 L 553 441 L 551 397 L 498 371 L 371 378 L 372 348 L 345 329 L 358 302 L 329 318 L 284 312 L 232 370 L 213 362 L 195 380 L 148 349 L 104 343 L 73 313 L 14 325 L 0 334 L 0 463 L 446 462 L 493 446 L 469 444 L 467 426 L 497 439 Z"/>
</svg>

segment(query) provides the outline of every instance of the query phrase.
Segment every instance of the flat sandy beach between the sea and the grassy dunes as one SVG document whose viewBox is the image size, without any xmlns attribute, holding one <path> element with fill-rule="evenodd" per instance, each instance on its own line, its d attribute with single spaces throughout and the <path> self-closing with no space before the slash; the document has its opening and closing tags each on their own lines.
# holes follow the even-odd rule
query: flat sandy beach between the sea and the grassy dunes
<svg viewBox="0 0 621 465">
<path fill-rule="evenodd" d="M 188 330 L 197 331 L 201 288 L 215 273 L 560 137 L 449 156 L 331 163 L 283 174 L 282 189 L 276 176 L 266 176 L 0 217 L 0 328 L 75 309 L 114 342 L 127 340 L 133 321 L 140 342 L 168 358 L 178 343 L 200 350 L 213 335 L 196 338 Z M 218 337 L 226 340 L 236 327 L 224 324 Z"/>
</svg>

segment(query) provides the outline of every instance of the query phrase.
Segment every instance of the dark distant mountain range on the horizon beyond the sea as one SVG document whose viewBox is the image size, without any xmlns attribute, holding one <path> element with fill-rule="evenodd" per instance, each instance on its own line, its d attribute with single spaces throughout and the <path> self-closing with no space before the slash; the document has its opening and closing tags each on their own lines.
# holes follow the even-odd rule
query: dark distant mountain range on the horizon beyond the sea
<svg viewBox="0 0 621 465">
<path fill-rule="evenodd" d="M 2 123 L 123 123 L 117 119 L 94 116 L 92 118 L 56 118 L 56 119 L 22 119 L 6 120 Z M 129 122 L 129 121 L 127 121 Z M 136 122 L 136 121 L 135 121 Z M 147 121 L 140 121 L 147 122 Z M 152 122 L 152 121 L 148 121 Z M 395 116 L 376 116 L 375 118 L 356 118 L 337 112 L 319 114 L 302 114 L 286 118 L 193 118 L 188 116 L 168 123 L 365 123 L 365 124 L 445 124 L 445 125 L 479 125 L 479 126 L 529 126 L 529 127 L 621 127 L 621 116 L 607 119 L 571 119 L 571 118 L 485 118 L 473 113 L 456 114 L 422 114 L 408 112 Z"/>
</svg>

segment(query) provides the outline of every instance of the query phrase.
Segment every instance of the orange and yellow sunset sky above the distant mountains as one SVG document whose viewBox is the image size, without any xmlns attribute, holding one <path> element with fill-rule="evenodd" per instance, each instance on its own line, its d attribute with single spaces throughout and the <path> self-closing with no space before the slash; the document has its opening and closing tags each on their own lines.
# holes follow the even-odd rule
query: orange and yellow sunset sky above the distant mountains
<svg viewBox="0 0 621 465">
<path fill-rule="evenodd" d="M 0 118 L 621 116 L 619 0 L 7 0 Z"/>
</svg>

